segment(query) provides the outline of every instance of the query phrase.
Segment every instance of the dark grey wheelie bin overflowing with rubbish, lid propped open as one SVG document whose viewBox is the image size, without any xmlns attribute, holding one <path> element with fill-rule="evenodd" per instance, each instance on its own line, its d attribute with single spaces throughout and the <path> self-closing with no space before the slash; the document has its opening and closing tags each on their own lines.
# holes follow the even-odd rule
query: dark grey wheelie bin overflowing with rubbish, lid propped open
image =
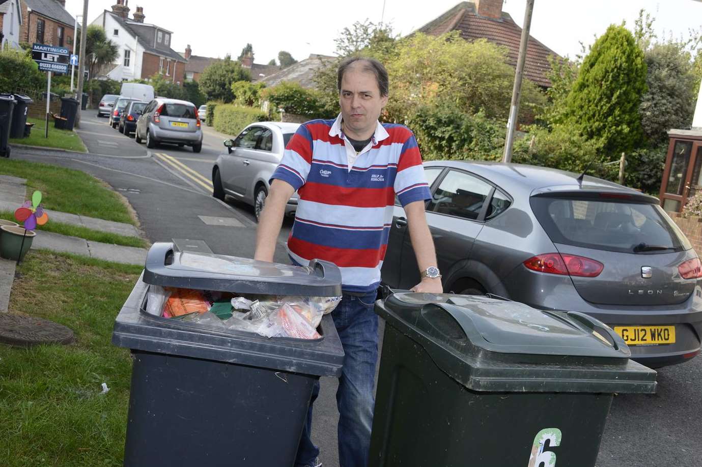
<svg viewBox="0 0 702 467">
<path fill-rule="evenodd" d="M 314 381 L 338 377 L 343 363 L 331 315 L 319 339 L 269 339 L 152 314 L 150 287 L 333 297 L 340 282 L 329 262 L 289 266 L 155 243 L 112 334 L 133 356 L 124 465 L 291 467 Z"/>
</svg>

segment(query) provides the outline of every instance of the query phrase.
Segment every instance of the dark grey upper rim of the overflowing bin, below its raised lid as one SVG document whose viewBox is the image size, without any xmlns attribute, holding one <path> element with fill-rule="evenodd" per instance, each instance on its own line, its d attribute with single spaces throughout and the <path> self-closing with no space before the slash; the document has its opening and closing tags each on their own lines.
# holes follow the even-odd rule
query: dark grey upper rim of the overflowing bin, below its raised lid
<svg viewBox="0 0 702 467">
<path fill-rule="evenodd" d="M 261 337 L 253 332 L 184 323 L 143 310 L 149 285 L 139 278 L 114 321 L 112 344 L 161 353 L 247 365 L 276 372 L 339 377 L 344 351 L 331 314 L 322 318 L 319 339 Z M 185 375 L 187 376 L 187 375 Z M 284 374 L 279 375 L 286 381 Z M 265 388 L 263 388 L 265 390 Z"/>
</svg>

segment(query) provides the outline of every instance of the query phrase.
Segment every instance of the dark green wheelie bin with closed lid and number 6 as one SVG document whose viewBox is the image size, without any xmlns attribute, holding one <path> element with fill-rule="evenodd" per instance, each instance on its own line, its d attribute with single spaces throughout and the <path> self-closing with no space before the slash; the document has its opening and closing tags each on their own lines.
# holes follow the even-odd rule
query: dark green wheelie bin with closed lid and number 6
<svg viewBox="0 0 702 467">
<path fill-rule="evenodd" d="M 397 293 L 370 467 L 592 467 L 614 393 L 654 393 L 607 325 L 490 297 Z"/>
</svg>

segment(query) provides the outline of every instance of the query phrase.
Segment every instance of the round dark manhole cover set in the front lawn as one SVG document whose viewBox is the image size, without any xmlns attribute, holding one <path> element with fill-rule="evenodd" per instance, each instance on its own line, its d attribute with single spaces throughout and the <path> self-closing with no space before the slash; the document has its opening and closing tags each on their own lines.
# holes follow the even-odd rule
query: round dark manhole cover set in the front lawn
<svg viewBox="0 0 702 467">
<path fill-rule="evenodd" d="M 70 344 L 73 331 L 64 325 L 34 316 L 0 313 L 0 343 L 31 347 L 37 344 Z"/>
</svg>

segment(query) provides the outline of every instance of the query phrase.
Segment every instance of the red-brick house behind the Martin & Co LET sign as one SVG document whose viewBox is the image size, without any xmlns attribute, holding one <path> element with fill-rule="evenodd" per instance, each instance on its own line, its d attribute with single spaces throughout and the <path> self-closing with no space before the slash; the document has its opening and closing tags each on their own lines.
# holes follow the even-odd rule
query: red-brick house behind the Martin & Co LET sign
<svg viewBox="0 0 702 467">
<path fill-rule="evenodd" d="M 20 41 L 72 48 L 76 20 L 65 6 L 66 0 L 20 0 Z"/>
</svg>

